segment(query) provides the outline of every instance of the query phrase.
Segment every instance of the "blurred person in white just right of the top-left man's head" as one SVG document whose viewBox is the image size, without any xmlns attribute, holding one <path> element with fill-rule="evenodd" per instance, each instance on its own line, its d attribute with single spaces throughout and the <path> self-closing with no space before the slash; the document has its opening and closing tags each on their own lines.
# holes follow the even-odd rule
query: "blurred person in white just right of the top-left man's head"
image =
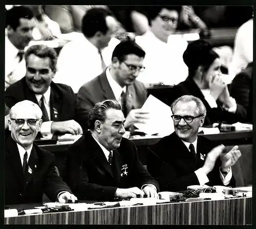
<svg viewBox="0 0 256 229">
<path fill-rule="evenodd" d="M 59 24 L 51 20 L 42 10 L 42 5 L 26 5 L 35 15 L 34 40 L 52 40 L 61 34 Z"/>
</svg>

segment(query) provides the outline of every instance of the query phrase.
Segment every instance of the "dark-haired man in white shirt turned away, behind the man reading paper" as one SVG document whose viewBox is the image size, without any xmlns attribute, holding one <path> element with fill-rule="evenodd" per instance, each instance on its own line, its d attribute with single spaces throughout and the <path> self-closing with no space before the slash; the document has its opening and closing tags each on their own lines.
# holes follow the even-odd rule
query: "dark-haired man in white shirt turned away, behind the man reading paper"
<svg viewBox="0 0 256 229">
<path fill-rule="evenodd" d="M 82 19 L 81 40 L 71 41 L 60 50 L 54 82 L 71 86 L 75 93 L 97 77 L 111 62 L 119 40 L 112 38 L 118 22 L 108 10 L 92 8 Z M 111 39 L 112 38 L 112 39 Z"/>
</svg>

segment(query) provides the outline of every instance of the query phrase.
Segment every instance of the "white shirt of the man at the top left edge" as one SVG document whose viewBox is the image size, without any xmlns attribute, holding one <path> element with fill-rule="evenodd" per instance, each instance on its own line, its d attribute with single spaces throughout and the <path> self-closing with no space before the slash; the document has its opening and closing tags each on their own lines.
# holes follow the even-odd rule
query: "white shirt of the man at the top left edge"
<svg viewBox="0 0 256 229">
<path fill-rule="evenodd" d="M 26 63 L 23 57 L 19 62 L 17 56 L 19 49 L 17 49 L 9 40 L 8 36 L 5 36 L 5 90 L 11 84 L 22 79 L 26 74 Z"/>
</svg>

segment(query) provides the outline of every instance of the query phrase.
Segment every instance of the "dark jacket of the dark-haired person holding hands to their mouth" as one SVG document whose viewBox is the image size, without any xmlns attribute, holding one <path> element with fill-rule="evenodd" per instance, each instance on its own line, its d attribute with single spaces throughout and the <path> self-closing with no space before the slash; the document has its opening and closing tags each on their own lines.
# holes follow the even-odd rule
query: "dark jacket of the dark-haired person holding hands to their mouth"
<svg viewBox="0 0 256 229">
<path fill-rule="evenodd" d="M 170 101 L 174 102 L 175 99 L 182 95 L 194 95 L 200 98 L 206 107 L 206 117 L 204 120 L 205 125 L 211 125 L 214 122 L 225 121 L 227 123 L 235 123 L 244 120 L 246 117 L 246 112 L 243 107 L 237 104 L 237 111 L 235 114 L 227 112 L 222 109 L 221 102 L 217 100 L 217 108 L 211 108 L 204 98 L 204 95 L 200 91 L 197 84 L 193 79 L 187 78 L 185 81 L 179 83 L 172 88 L 172 93 L 170 93 Z"/>
</svg>

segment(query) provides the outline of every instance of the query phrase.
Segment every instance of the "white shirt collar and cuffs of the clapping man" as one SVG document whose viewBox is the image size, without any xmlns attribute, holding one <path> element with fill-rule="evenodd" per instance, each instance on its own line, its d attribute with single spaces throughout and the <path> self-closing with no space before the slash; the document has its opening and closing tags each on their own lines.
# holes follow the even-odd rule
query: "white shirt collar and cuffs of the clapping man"
<svg viewBox="0 0 256 229">
<path fill-rule="evenodd" d="M 194 141 L 192 143 L 185 142 L 183 140 L 181 140 L 181 141 L 184 143 L 184 145 L 188 148 L 189 151 L 190 151 L 189 145 L 193 144 L 194 148 L 195 148 L 195 152 L 197 154 L 197 139 L 196 139 L 196 141 Z M 204 157 L 204 156 L 200 155 L 200 157 Z M 220 170 L 220 168 L 219 168 L 219 170 Z M 200 185 L 204 185 L 205 183 L 209 182 L 209 179 L 208 179 L 207 175 L 203 172 L 202 168 L 197 169 L 195 171 L 195 173 L 196 173 L 196 176 L 197 176 L 197 179 L 198 179 Z M 224 185 L 228 185 L 230 183 L 231 177 L 232 177 L 231 167 L 226 176 L 224 176 L 220 170 L 220 178 Z"/>
</svg>

